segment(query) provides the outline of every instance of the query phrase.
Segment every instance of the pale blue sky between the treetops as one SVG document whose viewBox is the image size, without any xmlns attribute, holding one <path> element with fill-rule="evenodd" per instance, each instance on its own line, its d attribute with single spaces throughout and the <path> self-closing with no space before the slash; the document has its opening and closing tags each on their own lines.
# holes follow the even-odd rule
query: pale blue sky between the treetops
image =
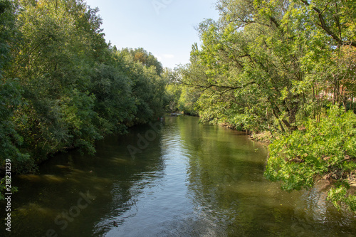
<svg viewBox="0 0 356 237">
<path fill-rule="evenodd" d="M 216 0 L 85 0 L 98 7 L 105 40 L 121 48 L 145 48 L 164 67 L 189 63 L 194 29 L 204 19 L 219 19 Z"/>
</svg>

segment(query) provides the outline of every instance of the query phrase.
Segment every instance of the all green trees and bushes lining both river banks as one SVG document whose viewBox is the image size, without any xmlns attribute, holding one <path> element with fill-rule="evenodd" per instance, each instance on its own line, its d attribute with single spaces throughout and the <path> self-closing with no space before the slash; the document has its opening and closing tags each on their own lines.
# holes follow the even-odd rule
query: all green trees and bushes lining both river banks
<svg viewBox="0 0 356 237">
<path fill-rule="evenodd" d="M 355 0 L 216 8 L 190 63 L 172 70 L 106 43 L 82 0 L 1 0 L 0 166 L 36 172 L 52 154 L 94 154 L 105 135 L 181 111 L 268 139 L 267 179 L 286 191 L 328 180 L 328 199 L 356 211 Z"/>
</svg>

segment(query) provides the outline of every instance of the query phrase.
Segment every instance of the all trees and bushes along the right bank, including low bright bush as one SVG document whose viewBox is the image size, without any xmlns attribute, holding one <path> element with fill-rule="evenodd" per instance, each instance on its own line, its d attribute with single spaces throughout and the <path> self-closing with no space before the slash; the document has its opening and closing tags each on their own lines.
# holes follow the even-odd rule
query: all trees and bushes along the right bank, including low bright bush
<svg viewBox="0 0 356 237">
<path fill-rule="evenodd" d="M 356 182 L 355 1 L 220 0 L 217 7 L 219 21 L 200 23 L 201 46 L 176 71 L 175 105 L 188 97 L 203 122 L 267 131 L 268 179 L 288 191 L 328 179 L 329 199 L 356 211 L 347 191 Z"/>
</svg>

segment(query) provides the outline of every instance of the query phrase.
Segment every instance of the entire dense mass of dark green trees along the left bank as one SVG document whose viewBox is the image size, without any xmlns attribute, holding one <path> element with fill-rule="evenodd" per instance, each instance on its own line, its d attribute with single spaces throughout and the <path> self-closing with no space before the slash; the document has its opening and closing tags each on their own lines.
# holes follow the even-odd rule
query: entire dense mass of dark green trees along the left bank
<svg viewBox="0 0 356 237">
<path fill-rule="evenodd" d="M 95 140 L 164 112 L 161 63 L 105 43 L 97 11 L 82 0 L 0 0 L 0 167 L 11 159 L 27 173 L 64 149 L 93 153 Z"/>
</svg>

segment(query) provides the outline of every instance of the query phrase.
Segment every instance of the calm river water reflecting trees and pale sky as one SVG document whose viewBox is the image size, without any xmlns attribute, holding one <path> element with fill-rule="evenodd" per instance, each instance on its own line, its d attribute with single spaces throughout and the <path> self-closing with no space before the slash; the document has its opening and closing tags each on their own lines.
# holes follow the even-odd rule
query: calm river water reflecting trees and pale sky
<svg viewBox="0 0 356 237">
<path fill-rule="evenodd" d="M 262 144 L 198 121 L 166 117 L 16 177 L 0 236 L 356 236 L 323 185 L 281 191 L 263 177 Z"/>
</svg>

